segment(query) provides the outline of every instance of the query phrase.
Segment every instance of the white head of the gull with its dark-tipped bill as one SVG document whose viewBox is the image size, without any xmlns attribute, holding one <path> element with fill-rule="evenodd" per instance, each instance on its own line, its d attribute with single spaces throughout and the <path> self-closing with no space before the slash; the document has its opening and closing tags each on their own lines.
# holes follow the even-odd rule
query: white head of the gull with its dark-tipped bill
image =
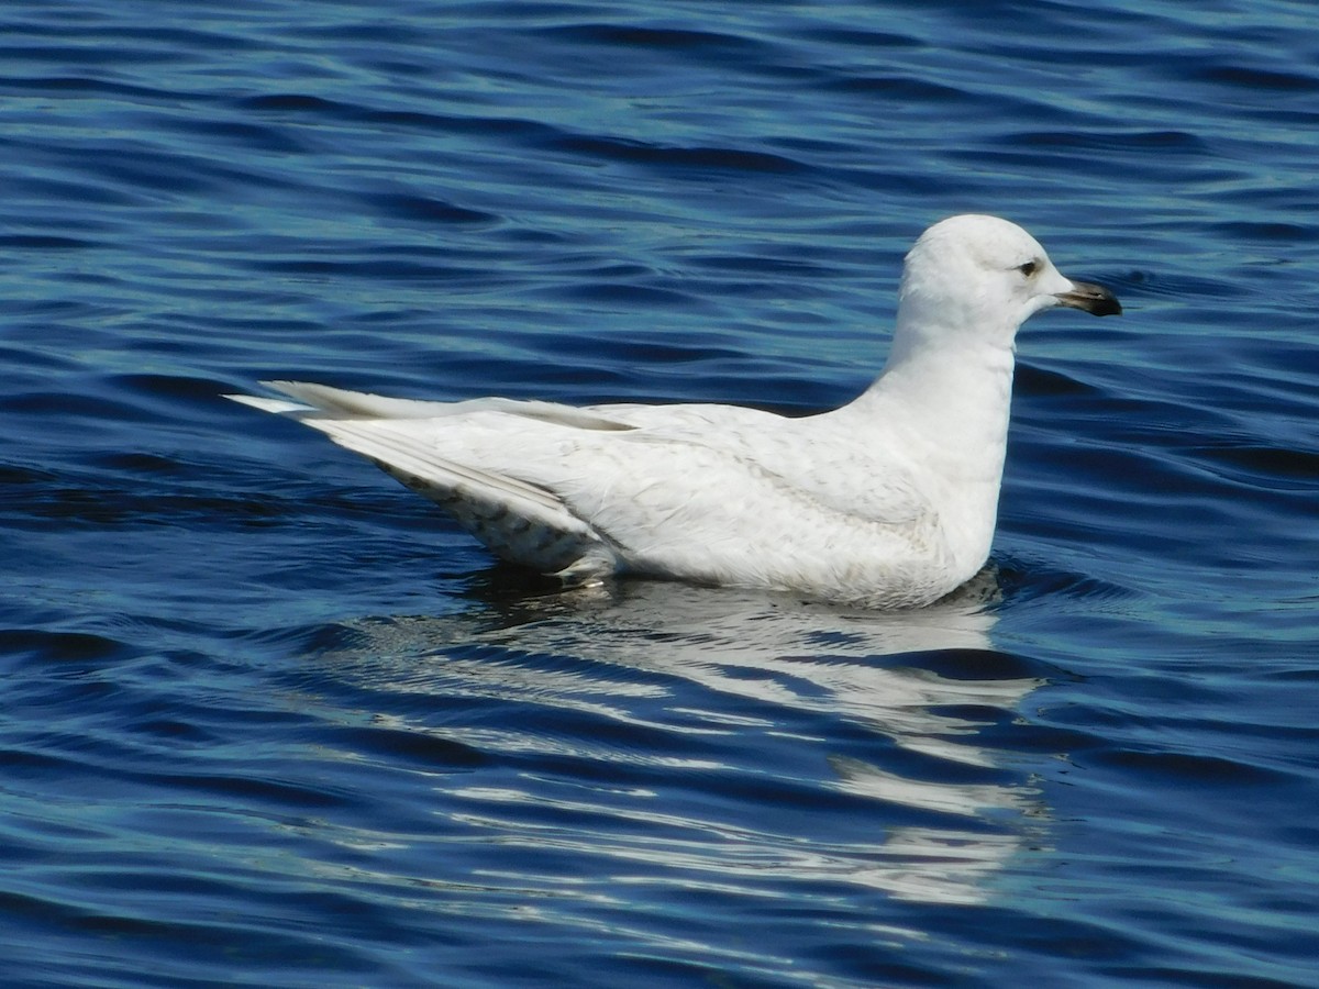
<svg viewBox="0 0 1319 989">
<path fill-rule="evenodd" d="M 1039 241 L 997 216 L 950 216 L 907 253 L 894 349 L 946 343 L 1013 347 L 1017 328 L 1055 306 L 1117 315 L 1112 291 L 1064 277 Z"/>
</svg>

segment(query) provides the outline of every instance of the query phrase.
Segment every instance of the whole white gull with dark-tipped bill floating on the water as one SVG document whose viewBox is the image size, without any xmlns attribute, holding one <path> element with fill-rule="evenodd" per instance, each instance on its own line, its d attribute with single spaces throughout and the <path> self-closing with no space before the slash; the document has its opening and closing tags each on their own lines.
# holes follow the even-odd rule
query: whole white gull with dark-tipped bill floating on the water
<svg viewBox="0 0 1319 989">
<path fill-rule="evenodd" d="M 930 227 L 906 256 L 889 359 L 855 401 L 787 418 L 732 405 L 426 402 L 294 381 L 298 419 L 445 508 L 512 563 L 930 604 L 989 556 L 1017 328 L 1121 313 L 1013 223 Z"/>
</svg>

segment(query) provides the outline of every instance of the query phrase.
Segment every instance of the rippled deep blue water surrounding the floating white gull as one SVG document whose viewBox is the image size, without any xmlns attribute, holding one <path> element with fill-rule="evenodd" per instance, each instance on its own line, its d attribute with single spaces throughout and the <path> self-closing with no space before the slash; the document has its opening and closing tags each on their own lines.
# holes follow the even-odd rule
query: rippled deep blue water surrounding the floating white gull
<svg viewBox="0 0 1319 989">
<path fill-rule="evenodd" d="M 0 28 L 5 985 L 1319 985 L 1311 4 Z M 926 612 L 563 597 L 219 397 L 818 410 L 968 210 L 1126 315 Z"/>
</svg>

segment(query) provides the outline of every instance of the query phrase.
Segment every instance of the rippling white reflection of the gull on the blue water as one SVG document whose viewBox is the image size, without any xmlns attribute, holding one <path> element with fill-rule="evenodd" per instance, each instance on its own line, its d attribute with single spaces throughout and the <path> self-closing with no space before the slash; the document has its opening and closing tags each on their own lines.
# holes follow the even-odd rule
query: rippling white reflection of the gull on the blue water
<svg viewBox="0 0 1319 989">
<path fill-rule="evenodd" d="M 549 828 L 584 854 L 681 864 L 687 881 L 776 874 L 977 903 L 1039 840 L 1038 793 L 1012 765 L 1021 741 L 996 740 L 1028 731 L 1017 709 L 1045 679 L 992 646 L 989 574 L 902 612 L 660 582 L 529 597 L 499 579 L 458 614 L 355 621 L 319 658 L 386 699 L 376 724 L 524 766 L 518 786 L 442 786 L 458 808 L 441 814 L 505 847 Z M 442 716 L 418 715 L 417 694 Z M 479 713 L 464 723 L 463 709 Z M 583 802 L 592 790 L 609 795 Z M 571 825 L 554 825 L 555 807 Z M 675 827 L 696 836 L 675 841 Z"/>
</svg>

